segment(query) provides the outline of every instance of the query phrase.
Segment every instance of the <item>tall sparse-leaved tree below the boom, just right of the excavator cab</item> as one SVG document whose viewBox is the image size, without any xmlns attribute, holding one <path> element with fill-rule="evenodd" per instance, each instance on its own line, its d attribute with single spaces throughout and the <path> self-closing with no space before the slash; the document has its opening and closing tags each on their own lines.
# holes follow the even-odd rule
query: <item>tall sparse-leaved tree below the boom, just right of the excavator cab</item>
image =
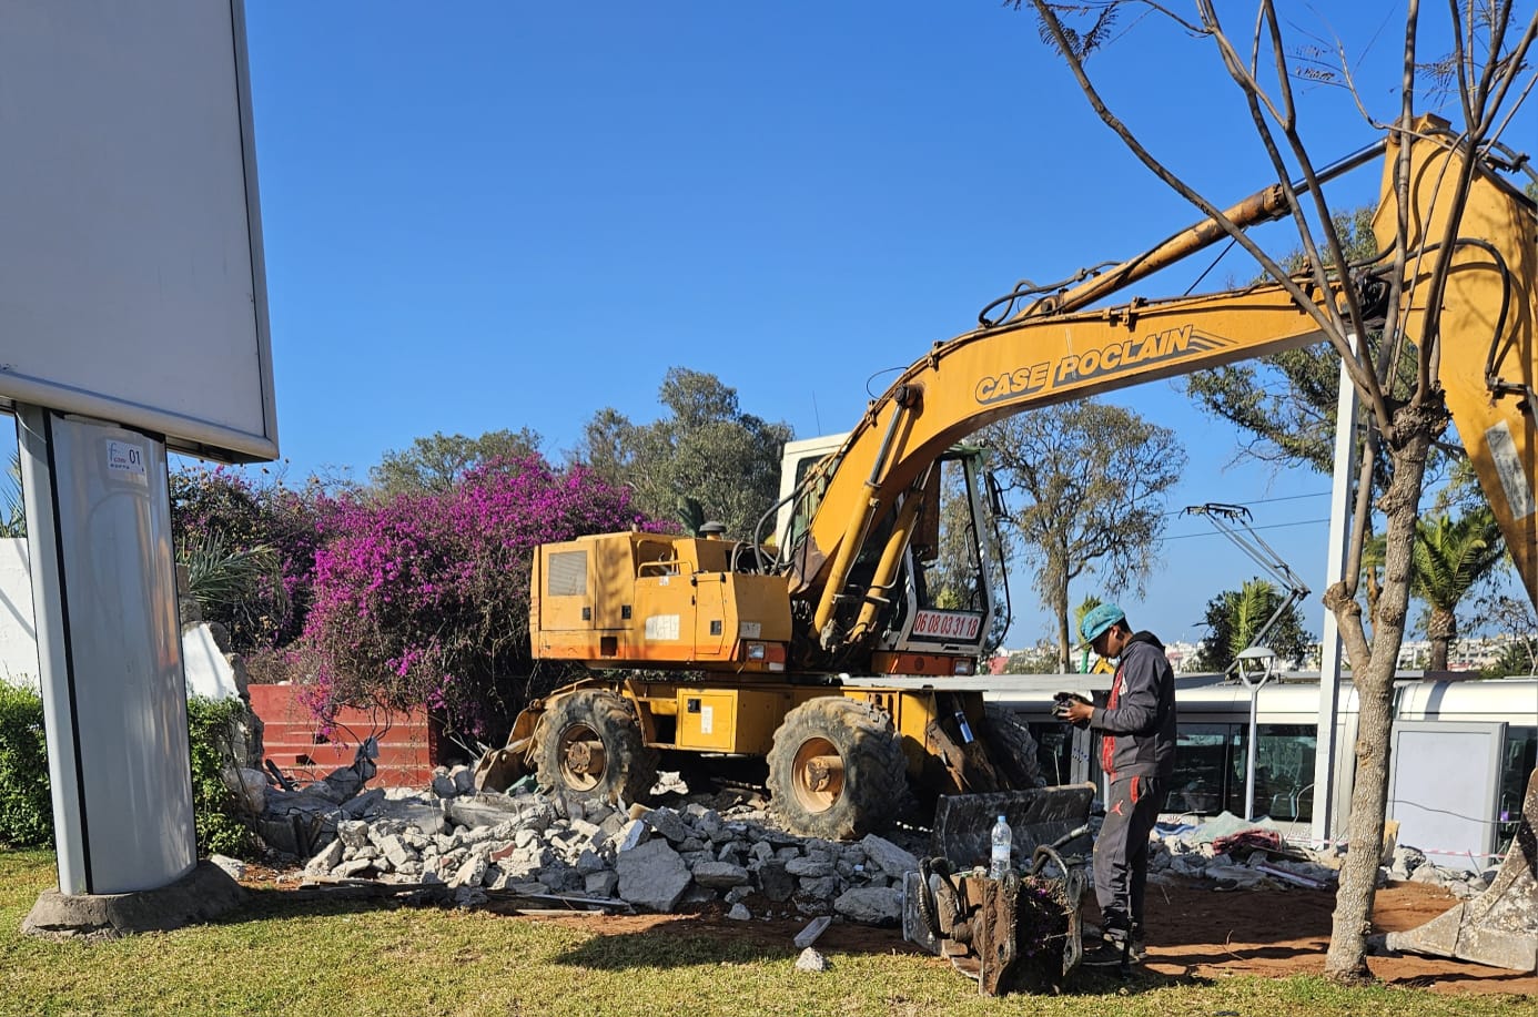
<svg viewBox="0 0 1538 1017">
<path fill-rule="evenodd" d="M 1141 595 L 1164 532 L 1164 492 L 1186 465 L 1175 432 L 1120 406 L 1084 399 L 983 430 L 1004 490 L 1018 498 L 1015 538 L 1057 621 L 1069 670 L 1069 585 L 1095 571 Z"/>
</svg>

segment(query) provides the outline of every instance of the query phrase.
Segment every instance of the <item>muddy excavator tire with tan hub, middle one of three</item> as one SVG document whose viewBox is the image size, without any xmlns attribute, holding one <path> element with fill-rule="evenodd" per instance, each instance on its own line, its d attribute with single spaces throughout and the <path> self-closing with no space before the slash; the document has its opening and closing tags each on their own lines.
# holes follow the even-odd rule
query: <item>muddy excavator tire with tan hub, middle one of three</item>
<svg viewBox="0 0 1538 1017">
<path fill-rule="evenodd" d="M 904 771 L 886 714 L 854 699 L 809 699 L 774 734 L 769 802 L 794 834 L 852 840 L 894 819 Z"/>
</svg>

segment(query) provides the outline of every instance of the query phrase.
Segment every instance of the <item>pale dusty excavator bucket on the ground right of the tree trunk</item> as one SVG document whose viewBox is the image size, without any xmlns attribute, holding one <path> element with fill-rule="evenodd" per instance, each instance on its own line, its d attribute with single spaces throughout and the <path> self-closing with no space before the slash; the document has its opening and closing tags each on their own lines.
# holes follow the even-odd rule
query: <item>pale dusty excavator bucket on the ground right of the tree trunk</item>
<svg viewBox="0 0 1538 1017">
<path fill-rule="evenodd" d="M 1523 817 L 1490 888 L 1407 933 L 1389 949 L 1538 971 L 1538 770 L 1527 777 Z"/>
</svg>

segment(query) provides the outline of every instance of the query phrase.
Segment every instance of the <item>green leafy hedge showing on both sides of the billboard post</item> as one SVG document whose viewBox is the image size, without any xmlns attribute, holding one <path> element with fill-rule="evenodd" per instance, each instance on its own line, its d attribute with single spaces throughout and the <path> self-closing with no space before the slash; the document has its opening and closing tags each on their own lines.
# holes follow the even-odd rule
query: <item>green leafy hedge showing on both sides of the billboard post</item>
<svg viewBox="0 0 1538 1017">
<path fill-rule="evenodd" d="M 255 837 L 241 820 L 223 771 L 235 765 L 231 725 L 245 713 L 238 699 L 188 701 L 192 748 L 192 822 L 203 856 L 249 856 Z M 0 842 L 48 846 L 54 842 L 54 808 L 43 739 L 43 701 L 31 688 L 0 682 Z"/>
</svg>

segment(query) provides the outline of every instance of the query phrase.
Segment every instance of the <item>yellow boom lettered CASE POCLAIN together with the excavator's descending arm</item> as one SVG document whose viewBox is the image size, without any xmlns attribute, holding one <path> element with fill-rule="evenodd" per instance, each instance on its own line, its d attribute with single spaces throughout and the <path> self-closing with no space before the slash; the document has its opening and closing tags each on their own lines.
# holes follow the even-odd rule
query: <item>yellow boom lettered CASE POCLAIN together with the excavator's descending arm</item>
<svg viewBox="0 0 1538 1017">
<path fill-rule="evenodd" d="M 1380 217 L 1392 229 L 1392 166 L 1386 160 Z M 1464 152 L 1441 137 L 1418 137 L 1410 152 L 1412 253 L 1416 247 L 1458 240 L 1456 269 L 1444 296 L 1440 356 L 1449 402 L 1486 490 L 1496 507 L 1529 593 L 1535 591 L 1533 542 L 1533 206 L 1483 164 L 1472 172 L 1467 210 L 1449 223 L 1453 181 Z M 1267 194 L 1267 192 L 1263 192 Z M 1249 200 L 1229 215 L 1240 224 L 1270 218 L 1275 203 Z M 1212 230 L 1193 229 L 1183 243 L 1164 244 L 1127 263 L 1112 277 L 1126 284 L 1210 243 Z M 1177 238 L 1180 240 L 1180 238 Z M 1415 275 L 1430 264 L 1435 247 L 1412 258 L 1406 298 L 1424 301 L 1427 287 Z M 1134 272 L 1129 266 L 1137 266 Z M 1320 307 L 1340 300 L 1332 292 L 1307 292 Z M 1101 280 L 1064 293 L 1055 307 L 1084 303 L 1110 287 Z M 1424 332 L 1424 307 L 1412 310 L 1410 338 Z M 1503 310 L 1504 309 L 1504 310 Z M 1500 338 L 1498 338 L 1500 336 Z M 1066 399 L 1218 367 L 1306 346 L 1323 335 L 1313 316 L 1280 284 L 1161 301 L 1140 301 L 1074 313 L 1017 316 L 1006 324 L 964 333 L 937 344 L 910 366 L 851 433 L 814 513 L 806 541 L 792 556 L 792 590 L 815 598 L 815 628 L 829 638 L 837 593 L 874 522 L 941 450 L 1004 416 Z M 1492 355 L 1492 349 L 1495 353 Z M 1504 378 L 1492 393 L 1487 359 Z M 1524 415 L 1526 413 L 1526 415 Z"/>
</svg>

